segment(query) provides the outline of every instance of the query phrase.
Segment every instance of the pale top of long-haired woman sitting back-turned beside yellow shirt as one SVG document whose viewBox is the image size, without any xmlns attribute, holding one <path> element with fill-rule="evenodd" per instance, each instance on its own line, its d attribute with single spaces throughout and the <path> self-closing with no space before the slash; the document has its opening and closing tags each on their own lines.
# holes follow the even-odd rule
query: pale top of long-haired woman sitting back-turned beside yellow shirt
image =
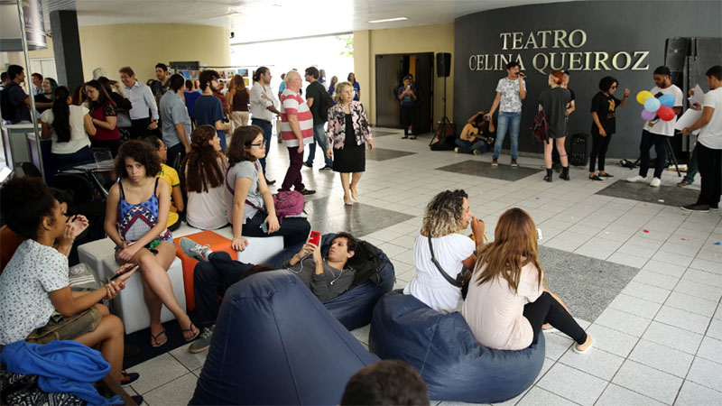
<svg viewBox="0 0 722 406">
<path fill-rule="evenodd" d="M 224 173 L 228 163 L 226 157 L 218 157 Z M 188 171 L 186 171 L 186 177 Z M 228 224 L 226 216 L 226 183 L 206 192 L 188 192 L 186 221 L 190 226 L 201 230 L 215 230 Z"/>
</svg>

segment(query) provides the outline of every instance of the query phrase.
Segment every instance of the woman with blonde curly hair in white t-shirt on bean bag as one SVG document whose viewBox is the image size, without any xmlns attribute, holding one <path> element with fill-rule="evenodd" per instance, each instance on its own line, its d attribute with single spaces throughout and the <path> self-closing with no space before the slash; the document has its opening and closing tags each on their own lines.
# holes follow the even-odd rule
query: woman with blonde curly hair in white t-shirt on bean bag
<svg viewBox="0 0 722 406">
<path fill-rule="evenodd" d="M 474 239 L 459 234 L 469 223 Z M 412 294 L 431 309 L 444 313 L 458 311 L 461 290 L 449 283 L 431 261 L 429 241 L 436 261 L 451 279 L 456 279 L 465 267 L 474 267 L 477 262 L 475 241 L 478 245 L 484 242 L 484 222 L 473 217 L 464 190 L 443 191 L 426 207 L 421 231 L 413 245 L 416 276 L 403 290 L 403 293 Z"/>
</svg>

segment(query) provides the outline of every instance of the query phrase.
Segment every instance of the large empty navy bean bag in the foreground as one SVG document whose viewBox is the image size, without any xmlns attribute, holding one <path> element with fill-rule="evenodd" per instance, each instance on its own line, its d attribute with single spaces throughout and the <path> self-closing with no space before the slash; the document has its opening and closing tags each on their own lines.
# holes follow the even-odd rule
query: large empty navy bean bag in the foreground
<svg viewBox="0 0 722 406">
<path fill-rule="evenodd" d="M 377 361 L 298 277 L 261 272 L 226 292 L 190 404 L 338 404 Z"/>
</svg>

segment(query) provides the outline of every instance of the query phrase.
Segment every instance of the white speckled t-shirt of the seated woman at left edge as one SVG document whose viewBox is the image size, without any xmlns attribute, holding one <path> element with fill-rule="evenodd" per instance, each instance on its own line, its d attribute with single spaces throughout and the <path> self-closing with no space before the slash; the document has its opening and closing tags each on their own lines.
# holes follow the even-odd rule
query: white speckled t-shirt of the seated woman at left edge
<svg viewBox="0 0 722 406">
<path fill-rule="evenodd" d="M 48 293 L 68 285 L 68 257 L 35 240 L 23 241 L 0 275 L 0 345 L 48 324 L 55 311 Z"/>
</svg>

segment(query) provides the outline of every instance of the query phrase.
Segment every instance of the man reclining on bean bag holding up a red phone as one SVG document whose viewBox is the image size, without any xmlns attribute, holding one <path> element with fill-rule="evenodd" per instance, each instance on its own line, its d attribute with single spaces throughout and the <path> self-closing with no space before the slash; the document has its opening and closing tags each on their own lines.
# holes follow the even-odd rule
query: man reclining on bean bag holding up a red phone
<svg viewBox="0 0 722 406">
<path fill-rule="evenodd" d="M 338 233 L 326 258 L 321 256 L 320 244 L 306 242 L 301 250 L 283 263 L 282 267 L 298 276 L 321 302 L 334 299 L 348 290 L 355 272 L 347 261 L 356 252 L 356 239 L 347 233 Z M 193 270 L 193 295 L 196 299 L 199 326 L 203 334 L 190 345 L 191 353 L 205 351 L 210 346 L 213 328 L 218 317 L 218 295 L 223 296 L 236 281 L 256 273 L 271 271 L 268 265 L 241 263 L 225 252 L 214 252 L 190 238 L 180 239 L 183 253 L 199 261 Z"/>
</svg>

